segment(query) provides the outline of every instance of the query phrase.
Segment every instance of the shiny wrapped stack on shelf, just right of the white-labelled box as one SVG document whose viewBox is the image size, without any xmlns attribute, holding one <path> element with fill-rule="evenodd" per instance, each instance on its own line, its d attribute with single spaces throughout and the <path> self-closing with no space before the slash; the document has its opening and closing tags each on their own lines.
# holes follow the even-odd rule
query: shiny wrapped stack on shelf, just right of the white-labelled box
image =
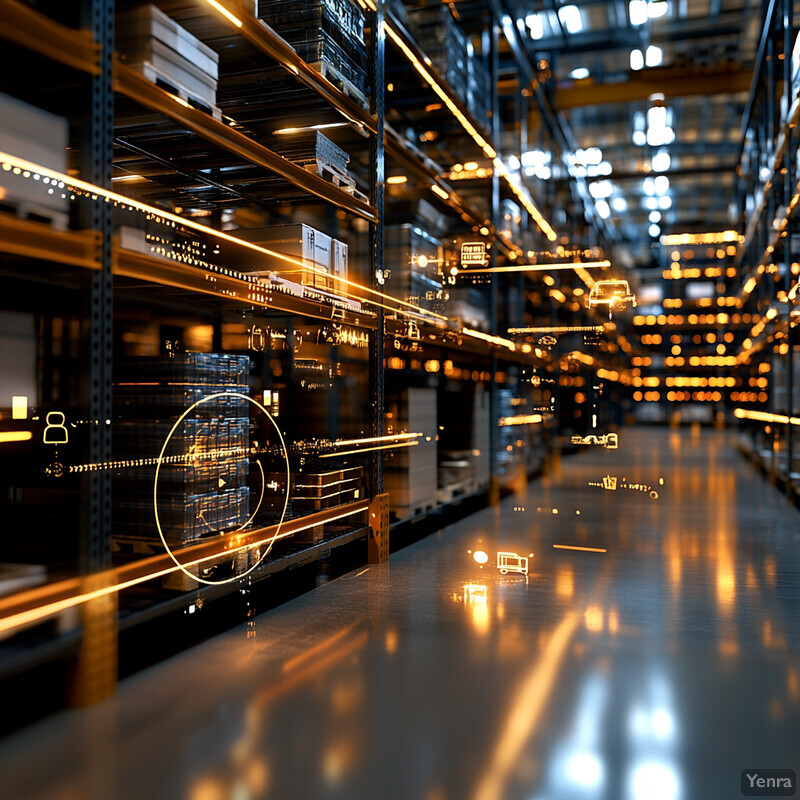
<svg viewBox="0 0 800 800">
<path fill-rule="evenodd" d="M 418 225 L 386 226 L 384 288 L 393 297 L 428 311 L 443 313 L 442 244 Z"/>
</svg>

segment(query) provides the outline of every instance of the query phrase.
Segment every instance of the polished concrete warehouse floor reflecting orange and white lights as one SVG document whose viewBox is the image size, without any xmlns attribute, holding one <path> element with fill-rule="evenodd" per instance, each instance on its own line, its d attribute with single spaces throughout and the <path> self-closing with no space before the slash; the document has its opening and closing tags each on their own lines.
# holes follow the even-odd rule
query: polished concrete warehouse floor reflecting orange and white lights
<svg viewBox="0 0 800 800">
<path fill-rule="evenodd" d="M 728 800 L 799 770 L 800 513 L 731 442 L 584 448 L 0 743 L 0 796 Z"/>
</svg>

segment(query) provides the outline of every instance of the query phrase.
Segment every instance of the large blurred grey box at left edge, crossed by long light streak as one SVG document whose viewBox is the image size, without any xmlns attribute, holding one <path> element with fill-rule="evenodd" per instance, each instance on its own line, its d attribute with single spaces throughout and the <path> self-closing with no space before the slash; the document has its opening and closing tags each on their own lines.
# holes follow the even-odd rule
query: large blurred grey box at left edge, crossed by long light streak
<svg viewBox="0 0 800 800">
<path fill-rule="evenodd" d="M 68 125 L 40 108 L 0 94 L 0 150 L 34 164 L 67 171 Z M 52 193 L 51 193 L 52 192 Z M 0 210 L 23 219 L 49 222 L 66 230 L 69 224 L 67 194 L 50 181 L 34 180 L 13 170 L 0 170 Z"/>
</svg>

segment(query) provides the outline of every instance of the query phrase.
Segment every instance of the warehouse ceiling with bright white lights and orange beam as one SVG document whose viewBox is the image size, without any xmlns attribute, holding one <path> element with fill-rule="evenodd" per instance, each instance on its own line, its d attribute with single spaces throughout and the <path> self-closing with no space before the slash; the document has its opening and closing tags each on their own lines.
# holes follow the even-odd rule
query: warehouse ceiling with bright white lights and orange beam
<svg viewBox="0 0 800 800">
<path fill-rule="evenodd" d="M 589 188 L 637 265 L 655 266 L 662 234 L 732 227 L 758 0 L 505 8 L 531 63 L 552 73 L 546 91 L 584 150 L 574 167 L 603 165 Z"/>
</svg>

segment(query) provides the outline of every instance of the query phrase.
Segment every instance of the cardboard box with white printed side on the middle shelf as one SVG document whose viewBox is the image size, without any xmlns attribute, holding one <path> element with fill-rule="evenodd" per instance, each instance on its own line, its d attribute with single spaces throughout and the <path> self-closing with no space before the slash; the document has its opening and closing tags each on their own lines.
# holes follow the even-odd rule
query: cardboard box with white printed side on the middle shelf
<svg viewBox="0 0 800 800">
<path fill-rule="evenodd" d="M 235 235 L 302 262 L 292 264 L 276 259 L 269 270 L 302 286 L 335 290 L 337 278 L 347 280 L 347 245 L 310 225 L 297 223 L 270 228 L 243 228 L 235 231 Z"/>
</svg>

